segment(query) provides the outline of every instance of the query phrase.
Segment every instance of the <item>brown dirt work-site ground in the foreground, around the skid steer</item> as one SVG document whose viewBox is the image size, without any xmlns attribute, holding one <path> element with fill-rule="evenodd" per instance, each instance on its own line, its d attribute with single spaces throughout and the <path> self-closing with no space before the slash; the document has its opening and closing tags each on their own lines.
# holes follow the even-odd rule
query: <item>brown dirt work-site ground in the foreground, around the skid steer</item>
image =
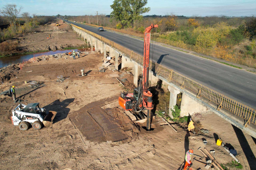
<svg viewBox="0 0 256 170">
<path fill-rule="evenodd" d="M 10 120 L 17 103 L 1 95 L 0 169 L 178 170 L 188 149 L 203 156 L 197 150 L 200 146 L 214 149 L 219 163 L 231 162 L 227 152 L 215 144 L 217 135 L 237 150 L 245 170 L 254 169 L 255 139 L 212 112 L 193 117 L 209 130 L 203 135 L 194 135 L 187 132 L 186 126 L 173 123 L 176 133 L 158 117 L 152 122 L 151 131 L 145 130 L 144 124 L 132 122 L 118 107 L 118 96 L 120 91 L 134 88 L 133 76 L 125 71 L 113 72 L 111 67 L 99 72 L 102 61 L 102 54 L 82 54 L 75 60 L 63 55 L 27 63 L 22 70 L 17 65 L 1 70 L 2 76 L 11 71 L 11 75 L 15 74 L 4 80 L 1 91 L 15 85 L 16 96 L 25 100 L 22 103 L 39 102 L 46 110 L 57 111 L 57 115 L 50 127 L 20 131 Z M 77 76 L 83 68 L 87 76 Z M 117 81 L 116 74 L 118 79 L 127 79 L 125 87 Z M 64 82 L 56 81 L 58 75 L 64 76 Z M 26 87 L 25 80 L 35 80 L 40 86 Z M 204 169 L 204 165 L 193 162 L 193 170 L 199 167 Z"/>
</svg>

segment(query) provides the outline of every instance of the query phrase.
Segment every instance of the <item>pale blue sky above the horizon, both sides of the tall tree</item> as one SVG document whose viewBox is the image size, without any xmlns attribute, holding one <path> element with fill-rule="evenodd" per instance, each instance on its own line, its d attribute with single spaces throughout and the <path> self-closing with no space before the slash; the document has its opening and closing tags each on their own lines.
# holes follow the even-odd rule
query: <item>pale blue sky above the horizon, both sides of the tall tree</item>
<svg viewBox="0 0 256 170">
<path fill-rule="evenodd" d="M 109 15 L 113 0 L 0 0 L 0 8 L 7 3 L 22 6 L 30 15 Z M 147 7 L 151 10 L 143 15 L 256 15 L 256 0 L 148 0 Z"/>
</svg>

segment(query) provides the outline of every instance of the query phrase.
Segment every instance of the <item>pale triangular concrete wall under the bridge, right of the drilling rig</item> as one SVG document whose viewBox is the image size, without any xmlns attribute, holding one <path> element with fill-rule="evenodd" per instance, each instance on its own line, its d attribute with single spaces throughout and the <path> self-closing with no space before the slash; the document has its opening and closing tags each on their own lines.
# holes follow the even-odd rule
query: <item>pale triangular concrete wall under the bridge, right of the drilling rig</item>
<svg viewBox="0 0 256 170">
<path fill-rule="evenodd" d="M 180 110 L 180 116 L 183 117 L 196 112 L 204 112 L 207 108 L 191 99 L 187 94 L 182 93 Z"/>
</svg>

